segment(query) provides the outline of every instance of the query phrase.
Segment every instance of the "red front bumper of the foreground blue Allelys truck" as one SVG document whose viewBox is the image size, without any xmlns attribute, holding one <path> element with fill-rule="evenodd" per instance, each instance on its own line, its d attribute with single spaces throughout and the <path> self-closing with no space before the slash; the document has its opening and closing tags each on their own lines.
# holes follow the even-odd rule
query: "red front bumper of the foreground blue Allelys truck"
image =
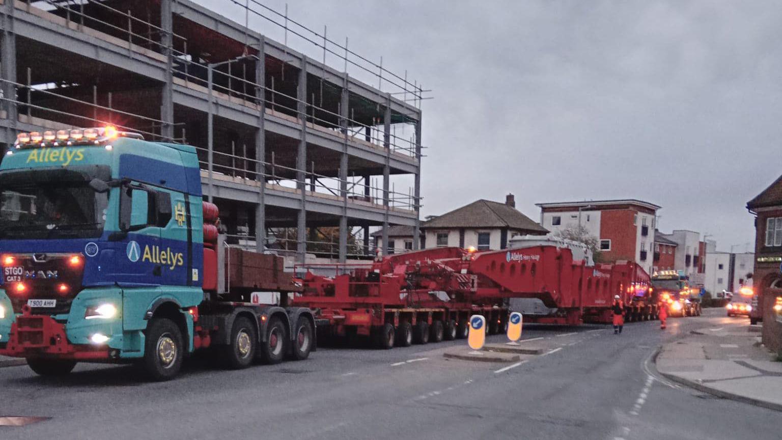
<svg viewBox="0 0 782 440">
<path fill-rule="evenodd" d="M 63 324 L 51 316 L 33 315 L 25 306 L 11 324 L 7 341 L 0 344 L 0 355 L 99 361 L 117 356 L 118 351 L 106 346 L 70 344 Z"/>
</svg>

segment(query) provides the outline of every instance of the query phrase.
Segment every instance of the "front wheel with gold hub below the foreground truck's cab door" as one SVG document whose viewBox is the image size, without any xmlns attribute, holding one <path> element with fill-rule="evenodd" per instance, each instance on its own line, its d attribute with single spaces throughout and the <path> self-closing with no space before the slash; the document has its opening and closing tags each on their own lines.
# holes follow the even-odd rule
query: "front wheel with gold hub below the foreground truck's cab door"
<svg viewBox="0 0 782 440">
<path fill-rule="evenodd" d="M 145 331 L 144 371 L 152 380 L 173 379 L 181 369 L 185 344 L 174 321 L 155 318 Z"/>
</svg>

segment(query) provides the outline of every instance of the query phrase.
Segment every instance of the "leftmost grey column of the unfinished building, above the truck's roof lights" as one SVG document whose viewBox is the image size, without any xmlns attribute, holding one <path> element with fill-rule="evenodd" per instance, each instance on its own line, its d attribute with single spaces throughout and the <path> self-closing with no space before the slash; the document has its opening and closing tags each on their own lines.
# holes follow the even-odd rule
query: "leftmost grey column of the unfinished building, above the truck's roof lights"
<svg viewBox="0 0 782 440">
<path fill-rule="evenodd" d="M 16 86 L 11 84 L 16 82 L 16 34 L 13 29 L 14 2 L 5 2 L 2 5 L 2 34 L 0 34 L 0 78 L 2 78 L 2 96 L 5 99 L 16 99 Z M 5 110 L 9 121 L 9 132 L 6 133 L 6 139 L 9 139 L 9 145 L 16 139 L 16 121 L 18 121 L 18 112 L 16 103 L 2 101 L 0 105 Z"/>
</svg>

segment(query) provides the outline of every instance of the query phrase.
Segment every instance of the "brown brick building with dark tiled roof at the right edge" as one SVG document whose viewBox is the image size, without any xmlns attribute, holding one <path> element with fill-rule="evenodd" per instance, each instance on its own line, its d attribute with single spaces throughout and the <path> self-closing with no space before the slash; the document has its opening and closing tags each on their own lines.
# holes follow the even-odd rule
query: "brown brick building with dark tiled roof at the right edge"
<svg viewBox="0 0 782 440">
<path fill-rule="evenodd" d="M 753 287 L 758 296 L 752 321 L 762 319 L 762 341 L 782 353 L 782 177 L 747 202 L 755 215 L 755 270 Z"/>
</svg>

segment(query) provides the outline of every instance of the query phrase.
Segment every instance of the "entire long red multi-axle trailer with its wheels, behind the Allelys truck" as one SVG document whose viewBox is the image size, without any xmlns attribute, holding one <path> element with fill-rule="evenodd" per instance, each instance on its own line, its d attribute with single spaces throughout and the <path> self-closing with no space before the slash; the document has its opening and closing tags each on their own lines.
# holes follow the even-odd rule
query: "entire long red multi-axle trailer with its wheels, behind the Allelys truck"
<svg viewBox="0 0 782 440">
<path fill-rule="evenodd" d="M 329 267 L 335 276 L 307 272 L 293 303 L 313 308 L 324 333 L 371 335 L 386 348 L 465 337 L 473 314 L 497 333 L 508 322 L 508 298 L 537 298 L 555 310 L 527 322 L 608 323 L 615 294 L 632 310 L 651 310 L 640 266 L 585 265 L 573 261 L 569 248 L 553 245 L 475 253 L 442 247 L 378 258 L 364 268 Z"/>
</svg>

